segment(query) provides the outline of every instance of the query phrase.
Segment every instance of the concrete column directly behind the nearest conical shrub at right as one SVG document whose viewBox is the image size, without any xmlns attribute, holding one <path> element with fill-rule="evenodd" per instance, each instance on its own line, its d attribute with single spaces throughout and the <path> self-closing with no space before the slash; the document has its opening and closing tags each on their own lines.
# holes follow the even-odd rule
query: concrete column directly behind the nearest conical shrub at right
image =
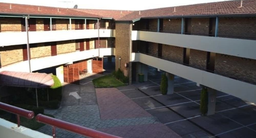
<svg viewBox="0 0 256 138">
<path fill-rule="evenodd" d="M 216 105 L 216 90 L 212 88 L 207 88 L 208 91 L 208 112 L 207 115 L 215 114 L 215 105 Z"/>
</svg>

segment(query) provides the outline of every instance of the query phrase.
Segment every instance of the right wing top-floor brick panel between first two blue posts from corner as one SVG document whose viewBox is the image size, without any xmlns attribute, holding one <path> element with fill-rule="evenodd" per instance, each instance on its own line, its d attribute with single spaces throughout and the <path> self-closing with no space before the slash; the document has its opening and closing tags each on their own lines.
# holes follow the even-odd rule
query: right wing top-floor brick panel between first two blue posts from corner
<svg viewBox="0 0 256 138">
<path fill-rule="evenodd" d="M 163 31 L 170 33 L 181 33 L 181 18 L 163 19 Z"/>
</svg>

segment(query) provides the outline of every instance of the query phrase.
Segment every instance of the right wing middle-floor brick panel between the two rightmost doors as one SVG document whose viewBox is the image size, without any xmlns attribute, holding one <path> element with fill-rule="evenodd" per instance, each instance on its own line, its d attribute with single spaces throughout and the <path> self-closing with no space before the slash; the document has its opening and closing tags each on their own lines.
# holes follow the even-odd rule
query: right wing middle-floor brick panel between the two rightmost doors
<svg viewBox="0 0 256 138">
<path fill-rule="evenodd" d="M 201 70 L 206 69 L 207 52 L 201 50 L 190 49 L 189 66 Z"/>
</svg>

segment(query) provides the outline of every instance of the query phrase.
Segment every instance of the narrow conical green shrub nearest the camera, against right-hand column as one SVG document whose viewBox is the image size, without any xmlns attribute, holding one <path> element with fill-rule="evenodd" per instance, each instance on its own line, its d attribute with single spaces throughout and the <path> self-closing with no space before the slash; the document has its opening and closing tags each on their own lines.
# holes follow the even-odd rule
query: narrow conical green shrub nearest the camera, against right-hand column
<svg viewBox="0 0 256 138">
<path fill-rule="evenodd" d="M 200 96 L 200 111 L 202 115 L 206 115 L 208 111 L 208 92 L 207 88 L 203 88 Z"/>
</svg>

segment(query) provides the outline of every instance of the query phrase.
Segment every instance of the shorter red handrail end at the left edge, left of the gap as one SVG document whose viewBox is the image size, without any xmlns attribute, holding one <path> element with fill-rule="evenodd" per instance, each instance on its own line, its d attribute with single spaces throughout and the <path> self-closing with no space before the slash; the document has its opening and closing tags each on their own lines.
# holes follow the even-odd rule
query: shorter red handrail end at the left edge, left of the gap
<svg viewBox="0 0 256 138">
<path fill-rule="evenodd" d="M 18 127 L 20 126 L 20 116 L 26 117 L 27 119 L 32 119 L 35 115 L 33 111 L 25 110 L 2 102 L 0 102 L 0 109 L 16 114 Z"/>
</svg>

